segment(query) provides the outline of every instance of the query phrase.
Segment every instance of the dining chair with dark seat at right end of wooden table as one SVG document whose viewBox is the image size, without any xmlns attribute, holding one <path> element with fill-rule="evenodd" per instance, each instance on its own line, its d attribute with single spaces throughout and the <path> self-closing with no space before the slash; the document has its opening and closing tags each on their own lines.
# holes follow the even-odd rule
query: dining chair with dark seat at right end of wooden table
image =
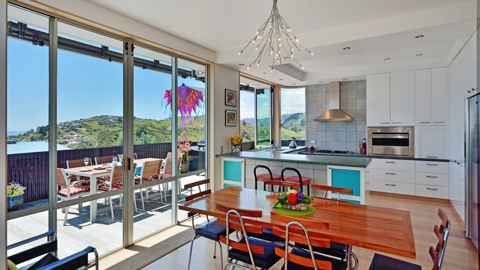
<svg viewBox="0 0 480 270">
<path fill-rule="evenodd" d="M 438 215 L 442 219 L 440 226 L 434 226 L 434 232 L 438 238 L 437 246 L 430 247 L 428 250 L 431 260 L 433 261 L 432 270 L 440 270 L 442 268 L 443 256 L 445 254 L 445 249 L 447 247 L 448 235 L 450 234 L 451 223 L 447 218 L 447 215 L 442 209 L 438 209 Z M 444 226 L 444 227 L 443 227 Z M 391 270 L 421 270 L 422 266 L 395 259 L 389 256 L 381 255 L 375 253 L 373 255 L 372 263 L 370 264 L 369 270 L 380 270 L 380 269 L 391 269 Z"/>
</svg>

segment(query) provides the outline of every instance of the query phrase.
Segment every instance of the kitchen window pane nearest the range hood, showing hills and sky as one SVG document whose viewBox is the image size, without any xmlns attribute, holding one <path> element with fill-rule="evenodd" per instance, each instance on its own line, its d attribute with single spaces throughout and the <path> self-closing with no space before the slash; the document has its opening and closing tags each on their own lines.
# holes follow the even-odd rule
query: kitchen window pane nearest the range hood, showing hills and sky
<svg viewBox="0 0 480 270">
<path fill-rule="evenodd" d="M 292 137 L 298 146 L 305 145 L 305 88 L 280 89 L 280 112 L 282 146 L 289 145 Z"/>
</svg>

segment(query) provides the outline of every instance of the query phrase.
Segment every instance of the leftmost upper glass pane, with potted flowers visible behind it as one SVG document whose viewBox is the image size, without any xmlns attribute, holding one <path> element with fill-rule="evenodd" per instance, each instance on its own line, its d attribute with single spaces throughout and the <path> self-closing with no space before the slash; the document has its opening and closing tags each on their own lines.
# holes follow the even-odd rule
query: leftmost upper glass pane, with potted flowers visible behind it
<svg viewBox="0 0 480 270">
<path fill-rule="evenodd" d="M 9 212 L 48 203 L 48 44 L 48 17 L 8 6 L 7 182 L 18 195 L 8 197 Z"/>
</svg>

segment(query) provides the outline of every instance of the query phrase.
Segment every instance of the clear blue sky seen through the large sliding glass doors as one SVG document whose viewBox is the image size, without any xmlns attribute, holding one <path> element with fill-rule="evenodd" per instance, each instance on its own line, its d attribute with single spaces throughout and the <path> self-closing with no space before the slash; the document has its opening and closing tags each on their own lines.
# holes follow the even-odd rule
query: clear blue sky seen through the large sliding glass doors
<svg viewBox="0 0 480 270">
<path fill-rule="evenodd" d="M 89 42 L 91 44 L 91 42 Z M 48 124 L 49 48 L 7 39 L 7 130 L 30 130 Z M 98 115 L 123 115 L 123 65 L 58 50 L 57 122 Z M 179 65 L 181 62 L 179 60 Z M 193 78 L 178 85 L 205 88 Z M 134 68 L 134 116 L 165 119 L 165 90 L 170 74 Z M 203 115 L 204 110 L 199 112 Z"/>
</svg>

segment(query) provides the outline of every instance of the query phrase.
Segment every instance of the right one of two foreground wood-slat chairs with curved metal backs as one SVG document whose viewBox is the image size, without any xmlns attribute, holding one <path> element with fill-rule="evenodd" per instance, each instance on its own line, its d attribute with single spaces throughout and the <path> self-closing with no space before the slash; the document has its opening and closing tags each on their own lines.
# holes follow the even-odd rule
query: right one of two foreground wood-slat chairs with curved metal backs
<svg viewBox="0 0 480 270">
<path fill-rule="evenodd" d="M 309 223 L 315 222 L 310 221 Z M 325 226 L 325 223 L 322 222 L 318 226 Z M 316 226 L 314 225 L 314 227 Z M 343 270 L 347 268 L 346 261 L 314 253 L 313 247 L 330 248 L 330 239 L 324 235 L 309 232 L 302 223 L 292 221 L 285 228 L 275 226 L 273 233 L 285 239 L 285 248 L 275 248 L 275 254 L 284 258 L 282 269 Z M 305 245 L 307 250 L 293 248 L 289 251 L 290 241 Z"/>
</svg>

